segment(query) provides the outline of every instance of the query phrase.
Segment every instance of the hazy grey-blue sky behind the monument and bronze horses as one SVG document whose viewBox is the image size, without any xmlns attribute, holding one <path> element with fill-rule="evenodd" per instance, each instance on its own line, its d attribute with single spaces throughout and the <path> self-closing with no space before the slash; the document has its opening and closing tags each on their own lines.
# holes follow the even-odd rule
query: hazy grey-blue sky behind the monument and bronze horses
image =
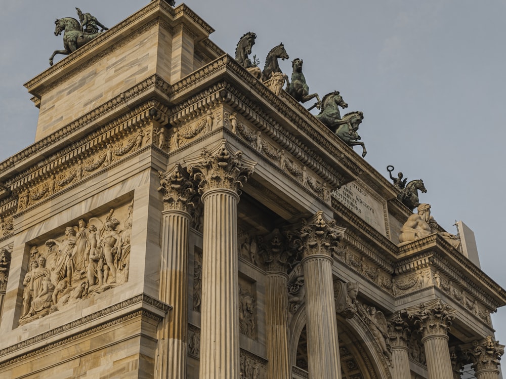
<svg viewBox="0 0 506 379">
<path fill-rule="evenodd" d="M 78 7 L 111 27 L 147 3 L 0 0 L 0 161 L 34 142 L 38 110 L 23 83 L 63 48 L 62 36 L 53 34 L 55 19 L 76 17 Z M 186 4 L 216 29 L 210 39 L 230 55 L 253 31 L 252 54 L 263 68 L 269 50 L 282 42 L 290 56 L 280 61 L 285 73 L 293 58 L 302 58 L 310 93 L 338 90 L 346 111 L 363 111 L 365 160 L 386 177 L 393 165 L 408 180 L 423 179 L 428 192 L 420 202 L 430 203 L 436 221 L 451 233 L 455 221 L 466 223 L 483 271 L 506 287 L 505 0 Z M 355 151 L 361 154 L 360 147 Z M 492 320 L 506 345 L 506 309 Z"/>
</svg>

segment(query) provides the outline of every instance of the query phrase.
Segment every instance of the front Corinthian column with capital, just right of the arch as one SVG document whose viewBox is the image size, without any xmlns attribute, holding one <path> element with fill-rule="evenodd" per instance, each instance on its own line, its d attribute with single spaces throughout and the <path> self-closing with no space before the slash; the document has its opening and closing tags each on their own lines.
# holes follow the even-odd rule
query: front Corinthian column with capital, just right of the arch
<svg viewBox="0 0 506 379">
<path fill-rule="evenodd" d="M 453 377 L 448 330 L 455 318 L 455 310 L 444 304 L 441 299 L 436 299 L 410 307 L 406 311 L 422 333 L 421 342 L 425 348 L 429 379 Z"/>
</svg>

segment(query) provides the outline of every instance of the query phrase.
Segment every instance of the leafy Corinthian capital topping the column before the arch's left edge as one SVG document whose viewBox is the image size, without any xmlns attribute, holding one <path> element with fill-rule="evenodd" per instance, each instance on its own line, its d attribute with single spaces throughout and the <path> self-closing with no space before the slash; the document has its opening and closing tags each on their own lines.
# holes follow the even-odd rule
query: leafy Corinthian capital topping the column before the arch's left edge
<svg viewBox="0 0 506 379">
<path fill-rule="evenodd" d="M 345 230 L 335 226 L 335 220 L 327 220 L 321 210 L 310 220 L 303 220 L 300 237 L 304 257 L 322 254 L 331 257 L 332 249 L 343 237 Z"/>
</svg>

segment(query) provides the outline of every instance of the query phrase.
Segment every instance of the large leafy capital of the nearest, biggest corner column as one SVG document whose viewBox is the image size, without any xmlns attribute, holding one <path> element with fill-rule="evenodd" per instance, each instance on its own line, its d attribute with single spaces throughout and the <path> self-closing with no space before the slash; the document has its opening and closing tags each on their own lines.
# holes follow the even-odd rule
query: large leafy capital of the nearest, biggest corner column
<svg viewBox="0 0 506 379">
<path fill-rule="evenodd" d="M 213 189 L 228 189 L 240 194 L 240 188 L 257 164 L 244 158 L 241 151 L 231 153 L 225 140 L 211 150 L 202 149 L 198 156 L 185 163 L 193 179 L 199 181 L 201 195 Z"/>
</svg>

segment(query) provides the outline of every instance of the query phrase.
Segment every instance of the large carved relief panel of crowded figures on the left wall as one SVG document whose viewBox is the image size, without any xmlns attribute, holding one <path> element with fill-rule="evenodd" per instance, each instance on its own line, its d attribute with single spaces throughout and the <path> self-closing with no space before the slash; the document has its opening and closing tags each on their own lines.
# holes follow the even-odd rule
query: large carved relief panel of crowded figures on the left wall
<svg viewBox="0 0 506 379">
<path fill-rule="evenodd" d="M 65 227 L 32 244 L 19 324 L 128 281 L 133 203 Z M 119 221 L 121 220 L 121 221 Z"/>
</svg>

